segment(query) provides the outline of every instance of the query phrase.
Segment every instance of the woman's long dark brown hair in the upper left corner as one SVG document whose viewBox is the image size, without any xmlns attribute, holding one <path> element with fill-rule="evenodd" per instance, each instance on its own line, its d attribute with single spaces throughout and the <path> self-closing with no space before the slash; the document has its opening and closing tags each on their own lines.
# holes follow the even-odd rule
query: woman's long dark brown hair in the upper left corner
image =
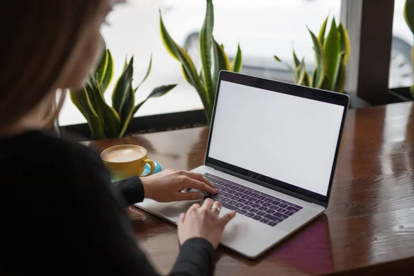
<svg viewBox="0 0 414 276">
<path fill-rule="evenodd" d="M 55 83 L 103 1 L 25 0 L 1 4 L 0 129 L 55 93 Z"/>
</svg>

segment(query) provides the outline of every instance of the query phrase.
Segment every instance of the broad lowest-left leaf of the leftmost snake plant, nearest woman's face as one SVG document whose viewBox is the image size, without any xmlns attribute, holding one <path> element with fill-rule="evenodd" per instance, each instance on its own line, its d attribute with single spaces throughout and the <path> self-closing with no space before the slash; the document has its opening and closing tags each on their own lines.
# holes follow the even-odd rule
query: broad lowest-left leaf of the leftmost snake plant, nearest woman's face
<svg viewBox="0 0 414 276">
<path fill-rule="evenodd" d="M 103 139 L 103 127 L 101 119 L 99 119 L 99 116 L 97 115 L 97 112 L 95 112 L 92 103 L 90 103 L 86 88 L 77 91 L 71 90 L 69 92 L 69 95 L 72 103 L 75 104 L 78 110 L 82 113 L 83 117 L 85 117 L 86 121 L 88 121 L 90 138 L 92 140 Z"/>
</svg>

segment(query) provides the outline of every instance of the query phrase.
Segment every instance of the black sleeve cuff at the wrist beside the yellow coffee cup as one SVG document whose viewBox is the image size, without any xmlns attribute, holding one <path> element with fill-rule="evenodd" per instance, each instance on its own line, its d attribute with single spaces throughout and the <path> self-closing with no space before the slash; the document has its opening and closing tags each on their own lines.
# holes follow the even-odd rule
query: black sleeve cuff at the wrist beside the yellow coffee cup
<svg viewBox="0 0 414 276">
<path fill-rule="evenodd" d="M 132 204 L 142 202 L 145 197 L 144 186 L 142 186 L 141 179 L 139 177 L 129 177 L 120 181 L 112 183 L 113 186 L 122 197 L 125 199 L 125 206 L 128 207 Z"/>
</svg>

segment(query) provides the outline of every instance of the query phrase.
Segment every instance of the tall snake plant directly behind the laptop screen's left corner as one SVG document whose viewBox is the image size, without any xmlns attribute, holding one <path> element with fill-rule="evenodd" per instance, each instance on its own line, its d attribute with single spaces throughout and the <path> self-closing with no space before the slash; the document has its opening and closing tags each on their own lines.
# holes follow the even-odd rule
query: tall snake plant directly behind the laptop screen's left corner
<svg viewBox="0 0 414 276">
<path fill-rule="evenodd" d="M 202 68 L 197 72 L 193 60 L 188 55 L 186 49 L 181 48 L 172 39 L 164 21 L 161 10 L 159 11 L 159 21 L 161 29 L 161 38 L 166 50 L 170 55 L 181 63 L 181 70 L 184 78 L 191 86 L 197 90 L 201 102 L 204 106 L 204 112 L 208 123 L 211 121 L 213 106 L 216 95 L 217 81 L 221 70 L 241 72 L 242 70 L 242 50 L 237 46 L 237 54 L 233 61 L 224 52 L 224 46 L 217 43 L 213 37 L 214 27 L 214 6 L 212 0 L 206 0 L 206 17 L 199 33 L 199 44 L 201 53 Z M 213 49 L 213 57 L 211 55 Z"/>
</svg>

